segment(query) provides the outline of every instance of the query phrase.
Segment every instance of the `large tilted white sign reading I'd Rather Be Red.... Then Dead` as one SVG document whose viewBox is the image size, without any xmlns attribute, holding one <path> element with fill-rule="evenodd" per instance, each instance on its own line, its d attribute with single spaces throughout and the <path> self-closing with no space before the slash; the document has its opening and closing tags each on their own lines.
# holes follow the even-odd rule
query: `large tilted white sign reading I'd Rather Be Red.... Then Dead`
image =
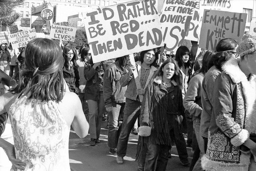
<svg viewBox="0 0 256 171">
<path fill-rule="evenodd" d="M 139 0 L 82 13 L 93 62 L 163 46 L 156 0 Z"/>
</svg>

